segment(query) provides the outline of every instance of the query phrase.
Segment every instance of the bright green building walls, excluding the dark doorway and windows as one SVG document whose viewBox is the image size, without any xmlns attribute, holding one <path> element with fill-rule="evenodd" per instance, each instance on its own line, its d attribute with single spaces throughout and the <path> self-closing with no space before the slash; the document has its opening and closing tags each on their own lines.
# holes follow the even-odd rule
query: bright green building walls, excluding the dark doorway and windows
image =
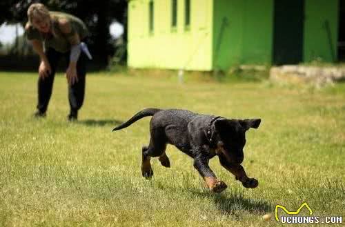
<svg viewBox="0 0 345 227">
<path fill-rule="evenodd" d="M 208 71 L 273 61 L 274 0 L 190 0 L 189 29 L 184 26 L 185 0 L 177 0 L 175 29 L 171 0 L 154 0 L 153 32 L 149 2 L 128 3 L 130 67 Z M 336 60 L 338 4 L 305 0 L 304 61 Z"/>
</svg>

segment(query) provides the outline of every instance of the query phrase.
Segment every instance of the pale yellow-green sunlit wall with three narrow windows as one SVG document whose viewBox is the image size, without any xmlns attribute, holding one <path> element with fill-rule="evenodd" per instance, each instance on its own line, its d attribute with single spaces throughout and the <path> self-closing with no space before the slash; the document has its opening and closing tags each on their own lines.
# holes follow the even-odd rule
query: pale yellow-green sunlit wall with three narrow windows
<svg viewBox="0 0 345 227">
<path fill-rule="evenodd" d="M 177 0 L 177 27 L 171 28 L 171 1 L 155 0 L 149 32 L 149 0 L 128 6 L 128 66 L 212 70 L 213 0 L 190 0 L 190 28 L 184 26 L 184 0 Z"/>
</svg>

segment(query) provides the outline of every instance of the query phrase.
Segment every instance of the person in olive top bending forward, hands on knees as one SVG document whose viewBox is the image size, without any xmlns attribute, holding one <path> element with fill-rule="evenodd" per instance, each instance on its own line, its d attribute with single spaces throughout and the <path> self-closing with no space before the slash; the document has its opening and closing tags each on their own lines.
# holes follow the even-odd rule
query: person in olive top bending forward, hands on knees
<svg viewBox="0 0 345 227">
<path fill-rule="evenodd" d="M 35 117 L 45 117 L 57 63 L 61 58 L 69 61 L 66 70 L 70 121 L 76 120 L 85 93 L 86 57 L 81 55 L 88 35 L 83 21 L 63 12 L 51 12 L 41 3 L 28 8 L 26 35 L 41 59 L 39 64 L 38 103 Z"/>
</svg>

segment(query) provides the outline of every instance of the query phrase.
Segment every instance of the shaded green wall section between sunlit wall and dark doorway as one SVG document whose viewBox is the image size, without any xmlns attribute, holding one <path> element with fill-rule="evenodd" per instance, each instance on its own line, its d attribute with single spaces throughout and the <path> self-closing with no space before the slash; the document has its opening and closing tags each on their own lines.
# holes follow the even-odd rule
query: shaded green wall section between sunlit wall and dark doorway
<svg viewBox="0 0 345 227">
<path fill-rule="evenodd" d="M 214 68 L 272 59 L 273 0 L 215 0 Z"/>
</svg>

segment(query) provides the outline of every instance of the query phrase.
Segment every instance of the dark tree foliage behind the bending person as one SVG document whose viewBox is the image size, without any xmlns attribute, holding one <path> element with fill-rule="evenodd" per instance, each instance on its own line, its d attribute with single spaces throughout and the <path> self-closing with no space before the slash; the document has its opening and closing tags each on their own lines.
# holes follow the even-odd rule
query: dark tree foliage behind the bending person
<svg viewBox="0 0 345 227">
<path fill-rule="evenodd" d="M 45 4 L 49 10 L 74 14 L 83 20 L 91 33 L 89 43 L 92 55 L 102 65 L 108 62 L 108 55 L 112 54 L 109 26 L 114 20 L 126 25 L 126 0 L 1 0 L 0 24 L 19 22 L 24 26 L 28 20 L 28 7 L 34 2 Z"/>
</svg>

